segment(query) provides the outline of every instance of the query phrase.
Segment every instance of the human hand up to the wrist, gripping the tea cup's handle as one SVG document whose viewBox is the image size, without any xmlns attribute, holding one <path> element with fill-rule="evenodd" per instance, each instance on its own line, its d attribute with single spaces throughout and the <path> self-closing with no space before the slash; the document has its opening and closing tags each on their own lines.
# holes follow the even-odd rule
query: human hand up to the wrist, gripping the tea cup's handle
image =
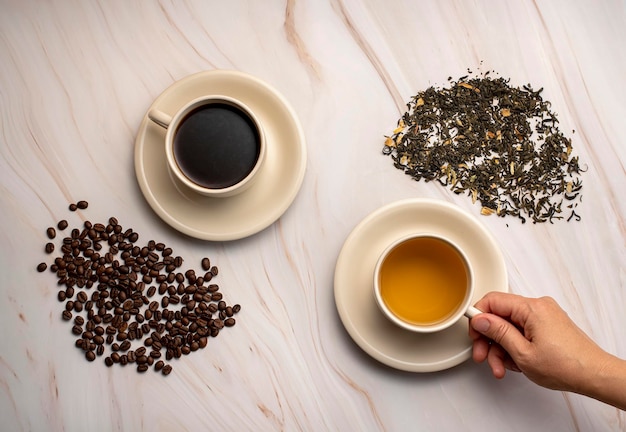
<svg viewBox="0 0 626 432">
<path fill-rule="evenodd" d="M 485 313 L 470 322 L 473 359 L 487 360 L 496 378 L 509 369 L 543 387 L 585 393 L 589 371 L 607 361 L 552 298 L 491 292 L 476 307 Z"/>
</svg>

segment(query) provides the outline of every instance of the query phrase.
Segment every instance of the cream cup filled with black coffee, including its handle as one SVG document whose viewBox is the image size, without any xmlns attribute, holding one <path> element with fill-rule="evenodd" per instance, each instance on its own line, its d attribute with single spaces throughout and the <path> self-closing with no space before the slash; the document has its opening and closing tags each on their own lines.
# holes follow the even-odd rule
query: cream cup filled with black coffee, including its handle
<svg viewBox="0 0 626 432">
<path fill-rule="evenodd" d="M 173 115 L 152 109 L 148 118 L 167 130 L 164 145 L 169 170 L 190 190 L 230 197 L 257 179 L 267 144 L 261 123 L 243 102 L 207 95 Z"/>
</svg>

